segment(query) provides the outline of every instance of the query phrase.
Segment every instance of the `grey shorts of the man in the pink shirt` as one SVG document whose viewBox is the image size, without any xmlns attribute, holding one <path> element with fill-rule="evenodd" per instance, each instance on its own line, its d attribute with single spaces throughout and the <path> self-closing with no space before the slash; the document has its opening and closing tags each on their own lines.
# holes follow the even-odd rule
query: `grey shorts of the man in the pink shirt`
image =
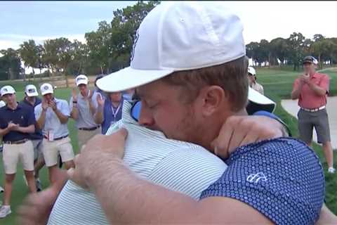
<svg viewBox="0 0 337 225">
<path fill-rule="evenodd" d="M 311 143 L 312 129 L 315 127 L 318 143 L 324 144 L 327 141 L 331 141 L 328 113 L 326 113 L 325 108 L 317 112 L 307 112 L 300 109 L 297 116 L 300 140 L 305 143 Z"/>
</svg>

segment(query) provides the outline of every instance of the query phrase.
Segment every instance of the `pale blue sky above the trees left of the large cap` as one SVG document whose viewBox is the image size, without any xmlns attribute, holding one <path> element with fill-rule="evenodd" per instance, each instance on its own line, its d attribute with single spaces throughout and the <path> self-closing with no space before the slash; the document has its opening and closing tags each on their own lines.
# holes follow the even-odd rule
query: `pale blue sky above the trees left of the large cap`
<svg viewBox="0 0 337 225">
<path fill-rule="evenodd" d="M 135 1 L 1 1 L 0 49 L 33 38 L 55 37 L 84 40 L 98 22 L 113 18 L 113 11 Z"/>
</svg>

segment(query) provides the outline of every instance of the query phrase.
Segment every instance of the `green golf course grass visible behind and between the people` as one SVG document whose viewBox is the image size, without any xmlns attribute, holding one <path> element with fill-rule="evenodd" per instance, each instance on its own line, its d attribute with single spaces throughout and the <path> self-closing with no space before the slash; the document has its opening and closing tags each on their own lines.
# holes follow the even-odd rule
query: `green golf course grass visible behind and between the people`
<svg viewBox="0 0 337 225">
<path fill-rule="evenodd" d="M 337 94 L 337 70 L 325 70 L 325 73 L 330 75 L 331 77 L 331 94 Z M 258 68 L 258 82 L 263 84 L 265 89 L 265 95 L 272 98 L 274 101 L 277 102 L 277 108 L 275 110 L 275 114 L 279 115 L 279 117 L 289 124 L 289 127 L 293 133 L 293 136 L 298 136 L 297 131 L 297 120 L 295 117 L 292 117 L 281 106 L 281 99 L 283 98 L 290 98 L 290 93 L 293 85 L 294 79 L 299 75 L 299 72 L 293 72 L 291 70 L 279 70 L 279 69 L 265 69 L 265 68 Z M 3 86 L 4 82 L 0 83 L 0 86 Z M 17 91 L 23 90 L 24 86 L 26 85 L 24 82 L 12 82 L 12 85 L 15 87 Z M 63 98 L 68 100 L 70 98 L 70 89 L 56 89 L 55 96 L 57 98 Z M 21 100 L 23 97 L 23 92 L 18 92 L 17 98 Z M 68 128 L 70 130 L 70 138 L 72 139 L 72 146 L 74 147 L 75 153 L 78 152 L 78 143 L 77 143 L 77 131 L 74 128 L 74 120 L 70 120 L 68 122 Z M 318 145 L 314 145 L 315 151 L 322 162 L 324 169 L 326 170 L 326 162 L 324 159 L 324 155 L 322 153 L 322 148 Z M 335 151 L 334 159 L 337 162 L 337 152 Z M 1 161 L 2 162 L 2 161 Z M 4 174 L 2 163 L 0 162 L 0 184 L 3 183 Z M 12 193 L 12 200 L 11 200 L 11 207 L 12 207 L 12 214 L 6 219 L 1 219 L 0 224 L 17 224 L 16 222 L 16 210 L 18 206 L 22 203 L 22 200 L 28 193 L 27 187 L 24 184 L 22 179 L 23 172 L 22 167 L 18 167 L 18 173 L 15 177 L 14 185 L 13 185 L 13 193 Z M 42 181 L 43 187 L 48 186 L 48 172 L 46 168 L 43 168 L 40 173 L 40 178 Z M 329 175 L 326 174 L 326 205 L 335 213 L 337 214 L 337 195 L 336 195 L 336 188 L 337 188 L 337 174 Z M 2 198 L 2 194 L 1 198 Z M 38 213 L 38 212 L 37 212 Z"/>
</svg>

